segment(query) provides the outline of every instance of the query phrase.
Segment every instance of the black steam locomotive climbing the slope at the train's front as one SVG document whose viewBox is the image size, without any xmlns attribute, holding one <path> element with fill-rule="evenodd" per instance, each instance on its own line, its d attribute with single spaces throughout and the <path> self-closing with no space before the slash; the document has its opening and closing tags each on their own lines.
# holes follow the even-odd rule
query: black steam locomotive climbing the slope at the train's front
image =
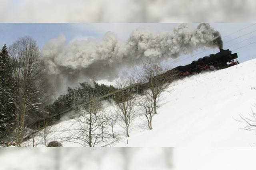
<svg viewBox="0 0 256 170">
<path fill-rule="evenodd" d="M 238 61 L 234 61 L 234 59 L 237 59 L 237 53 L 232 54 L 229 49 L 220 49 L 220 52 L 216 54 L 210 54 L 185 66 L 177 66 L 168 72 L 177 73 L 179 77 L 182 77 L 199 73 L 202 70 L 223 69 L 239 64 Z"/>
</svg>

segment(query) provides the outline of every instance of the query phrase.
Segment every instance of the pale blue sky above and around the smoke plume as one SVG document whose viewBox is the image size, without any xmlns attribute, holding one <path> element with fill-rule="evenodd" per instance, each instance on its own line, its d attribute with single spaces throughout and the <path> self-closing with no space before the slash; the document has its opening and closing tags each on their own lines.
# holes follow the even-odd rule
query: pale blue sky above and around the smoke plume
<svg viewBox="0 0 256 170">
<path fill-rule="evenodd" d="M 17 38 L 29 35 L 37 41 L 38 46 L 42 49 L 47 41 L 58 37 L 60 34 L 64 34 L 66 43 L 69 43 L 74 39 L 84 37 L 101 39 L 107 31 L 113 31 L 120 37 L 120 39 L 125 40 L 133 30 L 140 26 L 147 26 L 158 32 L 169 31 L 178 24 L 179 23 L 0 23 L 0 45 L 2 46 L 4 43 L 10 45 L 16 41 Z M 198 23 L 190 23 L 190 25 L 196 27 Z M 238 53 L 238 61 L 244 62 L 256 58 L 256 43 L 248 45 L 256 42 L 256 24 L 211 23 L 210 25 L 221 33 L 222 40 L 224 41 L 224 49 L 232 45 L 229 49 Z M 230 35 L 231 33 L 234 34 Z M 230 41 L 232 39 L 234 40 Z M 202 50 L 195 51 L 194 54 L 200 53 L 201 51 Z M 216 52 L 218 52 L 218 49 L 208 50 L 198 55 L 194 55 L 193 57 L 183 55 L 178 58 L 178 61 L 169 60 L 168 63 L 174 62 L 173 66 L 184 65 L 200 57 Z"/>
</svg>

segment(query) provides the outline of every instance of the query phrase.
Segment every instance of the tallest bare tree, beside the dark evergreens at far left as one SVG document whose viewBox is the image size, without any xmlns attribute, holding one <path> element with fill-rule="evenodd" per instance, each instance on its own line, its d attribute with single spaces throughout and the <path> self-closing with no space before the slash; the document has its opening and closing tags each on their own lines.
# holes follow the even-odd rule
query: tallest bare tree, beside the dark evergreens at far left
<svg viewBox="0 0 256 170">
<path fill-rule="evenodd" d="M 14 94 L 9 93 L 16 107 L 16 144 L 24 137 L 25 117 L 42 110 L 48 92 L 48 81 L 40 50 L 31 37 L 23 37 L 9 47 L 14 61 Z M 7 92 L 8 94 L 8 92 Z"/>
</svg>

